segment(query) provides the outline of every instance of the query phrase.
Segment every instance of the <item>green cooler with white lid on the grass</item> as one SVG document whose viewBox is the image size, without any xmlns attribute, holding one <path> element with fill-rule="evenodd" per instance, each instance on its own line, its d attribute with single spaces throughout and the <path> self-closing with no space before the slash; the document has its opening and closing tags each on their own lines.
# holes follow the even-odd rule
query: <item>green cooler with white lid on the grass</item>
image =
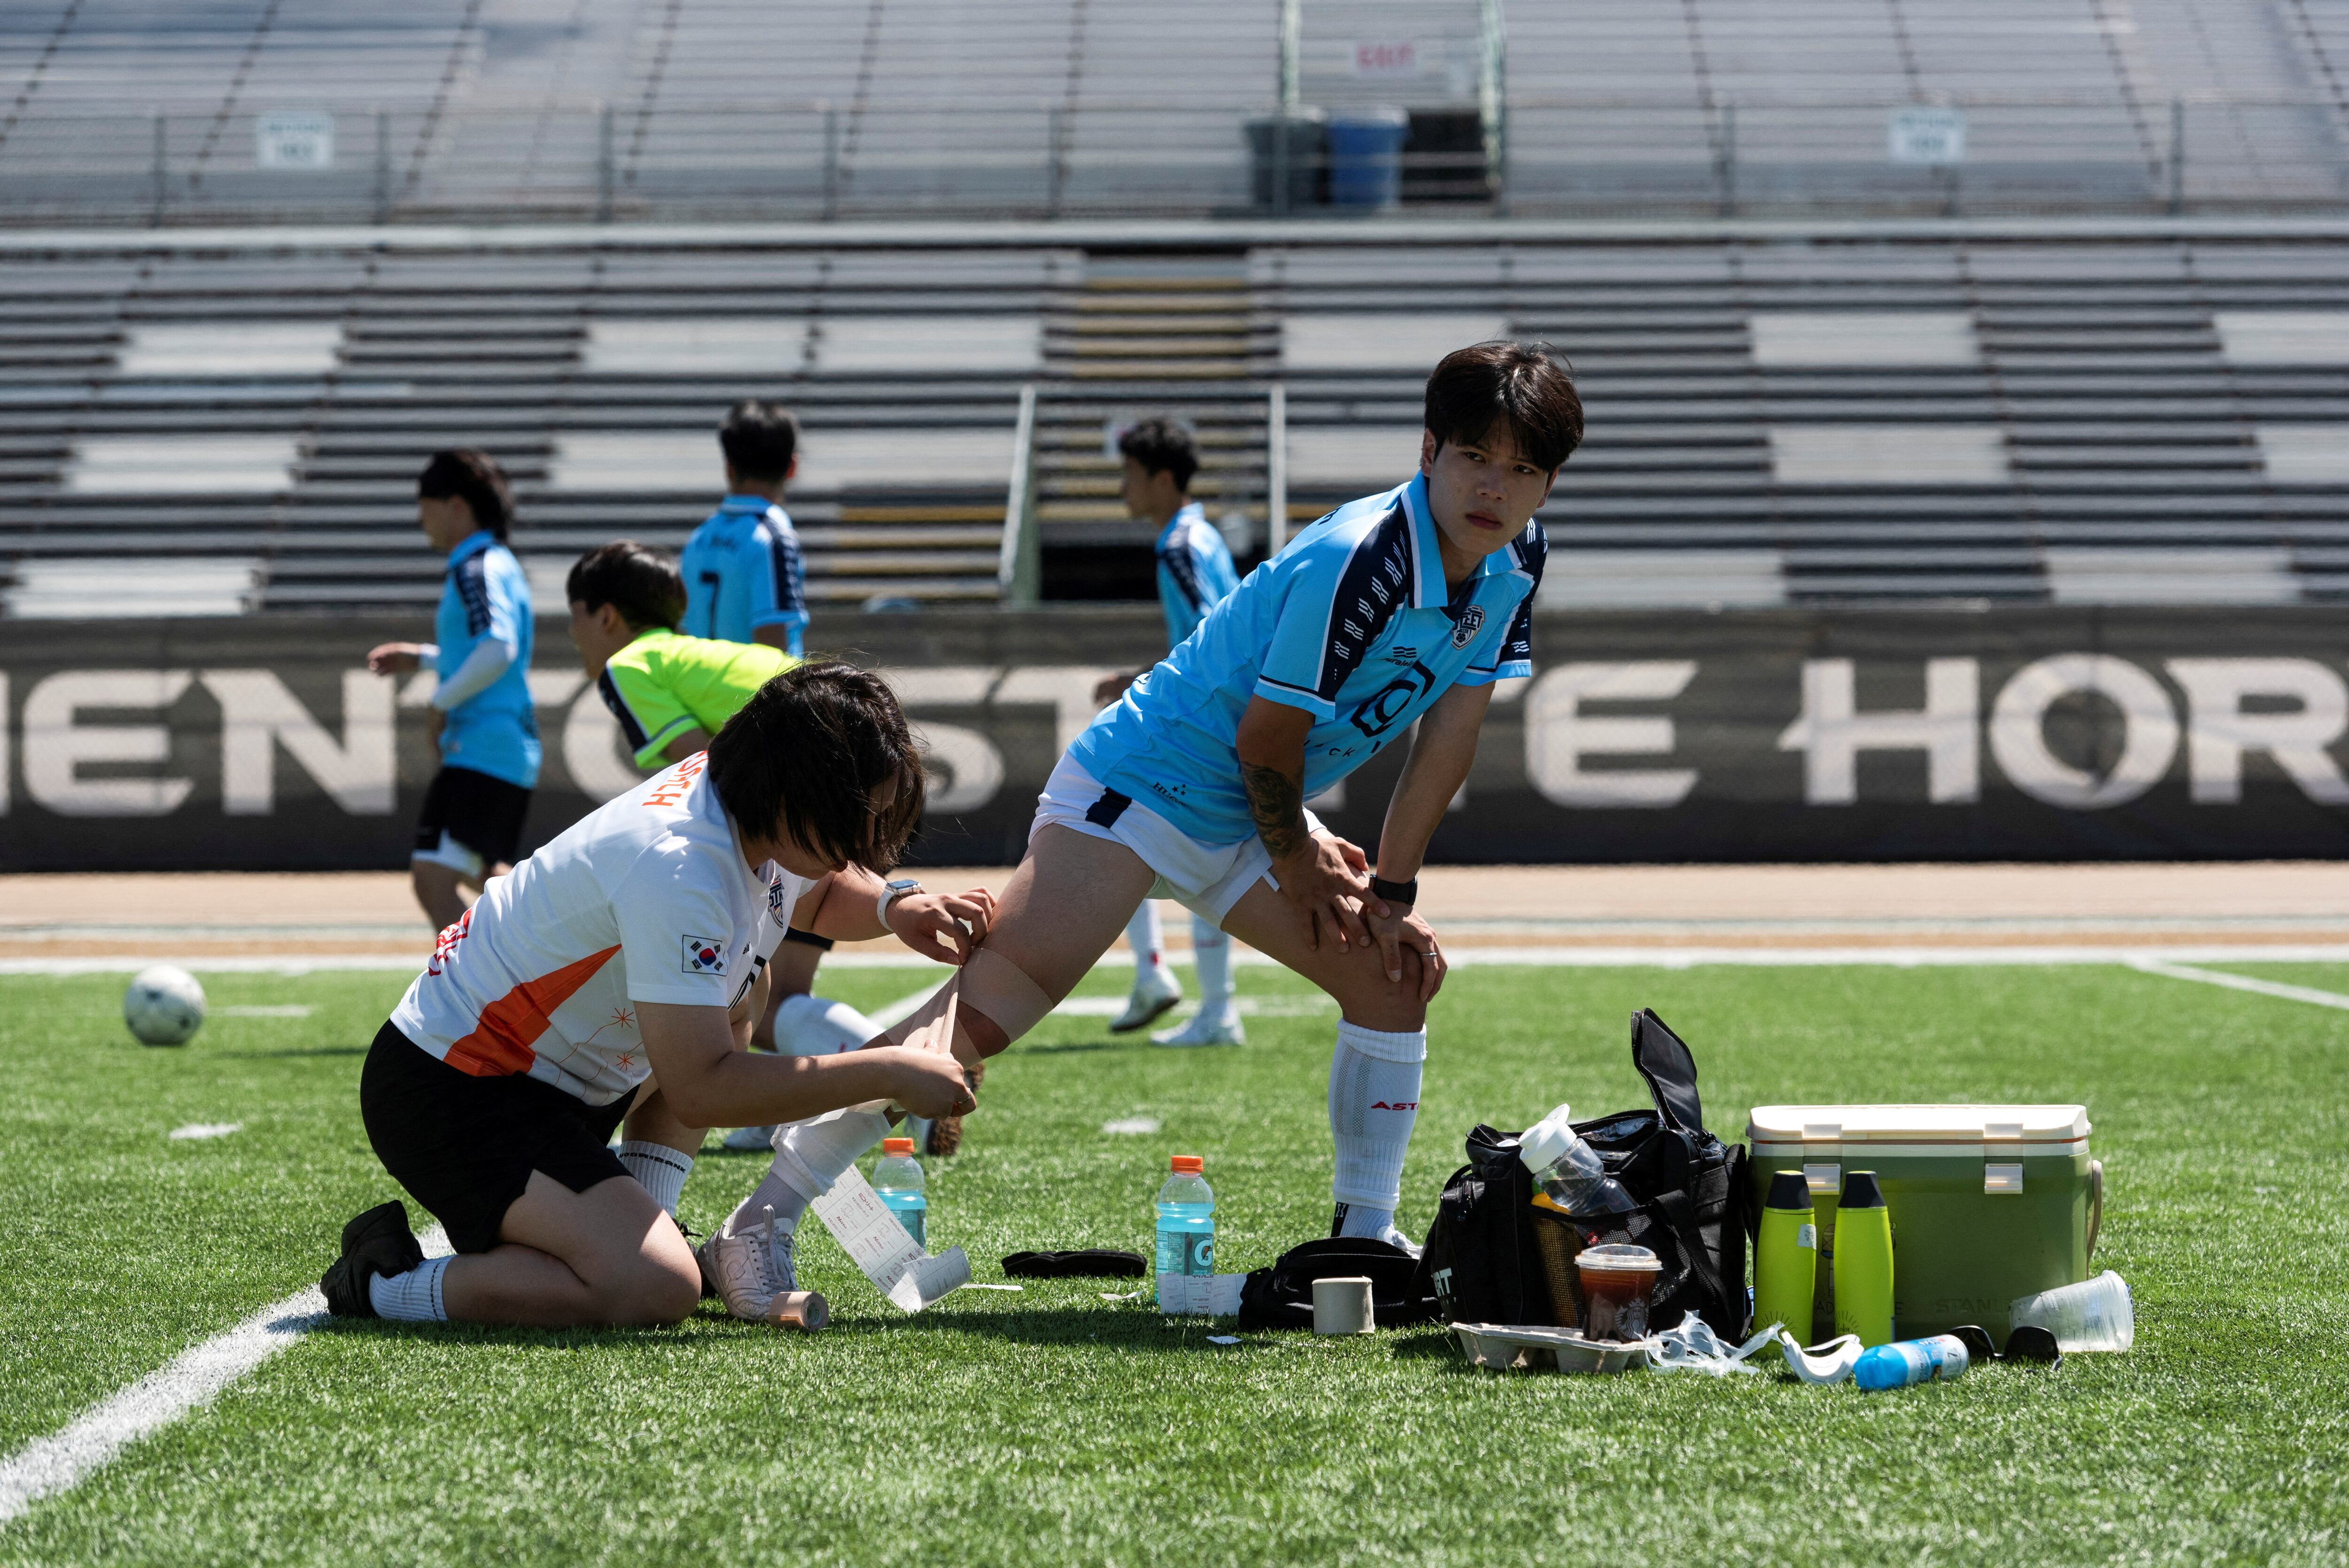
<svg viewBox="0 0 2349 1568">
<path fill-rule="evenodd" d="M 1844 1171 L 1875 1171 L 1891 1209 L 1898 1338 L 1980 1324 L 2004 1345 L 2015 1296 L 2088 1277 L 2105 1169 L 2088 1157 L 2086 1106 L 1755 1106 L 1745 1138 L 1752 1214 L 1773 1171 L 1802 1171 L 1811 1190 L 1809 1345 L 1835 1333 Z"/>
</svg>

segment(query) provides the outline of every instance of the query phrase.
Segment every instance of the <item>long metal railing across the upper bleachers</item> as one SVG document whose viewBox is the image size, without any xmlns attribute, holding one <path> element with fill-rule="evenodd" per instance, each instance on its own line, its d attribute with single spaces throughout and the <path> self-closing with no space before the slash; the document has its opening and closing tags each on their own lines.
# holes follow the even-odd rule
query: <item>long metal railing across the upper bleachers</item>
<svg viewBox="0 0 2349 1568">
<path fill-rule="evenodd" d="M 1400 197 L 1421 211 L 2349 207 L 2349 120 L 2323 101 L 1513 94 L 1414 136 Z M 1344 216 L 1330 174 L 1325 131 L 1273 103 L 26 115 L 0 138 L 0 225 Z"/>
</svg>

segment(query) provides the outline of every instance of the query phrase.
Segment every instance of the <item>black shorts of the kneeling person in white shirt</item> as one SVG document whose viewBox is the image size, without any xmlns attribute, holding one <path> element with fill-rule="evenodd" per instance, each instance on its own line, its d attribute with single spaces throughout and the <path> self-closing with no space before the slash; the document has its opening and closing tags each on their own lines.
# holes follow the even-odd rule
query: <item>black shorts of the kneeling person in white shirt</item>
<svg viewBox="0 0 2349 1568">
<path fill-rule="evenodd" d="M 359 1073 L 359 1117 L 376 1160 L 458 1251 L 498 1244 L 505 1211 L 545 1171 L 573 1192 L 627 1176 L 606 1148 L 637 1091 L 590 1106 L 536 1077 L 474 1077 L 385 1023 Z"/>
</svg>

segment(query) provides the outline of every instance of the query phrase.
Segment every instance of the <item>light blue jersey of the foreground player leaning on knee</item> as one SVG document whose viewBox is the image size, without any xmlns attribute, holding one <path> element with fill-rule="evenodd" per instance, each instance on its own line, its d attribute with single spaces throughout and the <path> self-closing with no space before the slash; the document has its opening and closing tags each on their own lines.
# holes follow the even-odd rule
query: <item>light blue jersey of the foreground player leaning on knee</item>
<svg viewBox="0 0 2349 1568">
<path fill-rule="evenodd" d="M 1454 685 L 1534 674 L 1541 523 L 1445 587 L 1426 479 L 1351 500 L 1247 573 L 1069 756 L 1203 845 L 1257 831 L 1236 735 L 1250 697 L 1313 714 L 1306 798 L 1407 732 Z"/>
</svg>

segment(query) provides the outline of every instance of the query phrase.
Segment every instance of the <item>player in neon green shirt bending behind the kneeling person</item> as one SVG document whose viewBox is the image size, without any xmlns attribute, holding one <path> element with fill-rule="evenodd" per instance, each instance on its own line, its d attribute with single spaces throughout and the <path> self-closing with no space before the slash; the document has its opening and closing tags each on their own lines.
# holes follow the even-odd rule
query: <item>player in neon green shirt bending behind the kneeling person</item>
<svg viewBox="0 0 2349 1568">
<path fill-rule="evenodd" d="M 667 768 L 707 751 L 709 737 L 749 702 L 752 692 L 799 664 L 782 648 L 766 643 L 679 634 L 686 582 L 665 556 L 634 540 L 601 545 L 573 561 L 564 592 L 571 601 L 571 641 L 604 695 L 604 707 L 620 721 L 637 768 Z M 792 911 L 792 925 L 775 948 L 775 960 L 768 965 L 775 1000 L 752 1035 L 761 1049 L 829 1056 L 853 1052 L 881 1033 L 879 1023 L 846 1002 L 813 995 L 815 965 L 832 944 L 806 927 L 813 925 L 815 906 L 829 897 L 834 880 L 824 878 L 801 908 Z M 876 897 L 876 890 L 843 887 L 843 892 Z M 994 906 L 987 890 L 965 897 Z M 728 1134 L 726 1148 L 763 1148 L 773 1131 L 773 1127 L 738 1129 Z M 944 1117 L 928 1129 L 916 1127 L 914 1134 L 928 1143 L 928 1153 L 951 1155 L 961 1143 L 961 1117 Z"/>
</svg>

